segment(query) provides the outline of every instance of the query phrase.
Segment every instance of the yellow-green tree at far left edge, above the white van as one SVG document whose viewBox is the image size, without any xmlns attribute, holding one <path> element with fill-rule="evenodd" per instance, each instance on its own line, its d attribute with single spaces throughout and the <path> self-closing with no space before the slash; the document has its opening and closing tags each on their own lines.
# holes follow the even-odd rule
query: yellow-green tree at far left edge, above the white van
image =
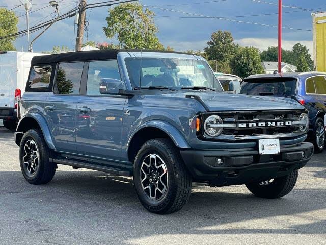
<svg viewBox="0 0 326 245">
<path fill-rule="evenodd" d="M 18 18 L 13 11 L 0 8 L 0 37 L 8 36 L 18 31 Z M 0 50 L 16 50 L 14 47 L 14 37 L 0 40 Z"/>
</svg>

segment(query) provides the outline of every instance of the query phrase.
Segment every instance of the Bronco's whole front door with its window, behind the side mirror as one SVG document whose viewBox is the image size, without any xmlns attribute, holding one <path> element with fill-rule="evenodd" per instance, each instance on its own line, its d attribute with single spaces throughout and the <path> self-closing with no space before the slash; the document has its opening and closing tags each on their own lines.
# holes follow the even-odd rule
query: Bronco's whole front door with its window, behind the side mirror
<svg viewBox="0 0 326 245">
<path fill-rule="evenodd" d="M 76 148 L 79 154 L 119 160 L 126 97 L 100 94 L 102 78 L 121 80 L 116 60 L 89 62 L 85 95 L 77 104 Z"/>
</svg>

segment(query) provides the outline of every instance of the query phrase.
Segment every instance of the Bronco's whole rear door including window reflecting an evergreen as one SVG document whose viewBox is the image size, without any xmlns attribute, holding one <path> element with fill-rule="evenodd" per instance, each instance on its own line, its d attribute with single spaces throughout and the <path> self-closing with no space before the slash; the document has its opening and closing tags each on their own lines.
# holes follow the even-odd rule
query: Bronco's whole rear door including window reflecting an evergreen
<svg viewBox="0 0 326 245">
<path fill-rule="evenodd" d="M 57 78 L 45 102 L 48 122 L 58 151 L 76 152 L 76 107 L 84 62 L 60 63 Z"/>
</svg>

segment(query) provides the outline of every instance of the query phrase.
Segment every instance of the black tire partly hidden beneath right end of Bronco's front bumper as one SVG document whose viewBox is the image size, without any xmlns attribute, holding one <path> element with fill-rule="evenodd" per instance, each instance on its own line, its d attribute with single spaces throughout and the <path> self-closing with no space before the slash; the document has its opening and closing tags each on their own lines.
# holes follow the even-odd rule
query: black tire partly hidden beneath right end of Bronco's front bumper
<svg viewBox="0 0 326 245">
<path fill-rule="evenodd" d="M 246 187 L 251 193 L 260 198 L 281 198 L 284 195 L 290 193 L 290 191 L 295 186 L 298 169 L 291 171 L 289 175 L 275 178 L 273 182 L 268 185 L 260 185 L 261 182 L 251 182 L 247 183 Z"/>
</svg>

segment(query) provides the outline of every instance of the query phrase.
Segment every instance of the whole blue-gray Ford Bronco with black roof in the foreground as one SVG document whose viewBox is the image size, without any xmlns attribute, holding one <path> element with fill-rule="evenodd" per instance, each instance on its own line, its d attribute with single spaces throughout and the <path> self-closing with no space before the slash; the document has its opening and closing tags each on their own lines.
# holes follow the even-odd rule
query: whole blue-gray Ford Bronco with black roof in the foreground
<svg viewBox="0 0 326 245">
<path fill-rule="evenodd" d="M 225 92 L 205 59 L 177 52 L 36 56 L 18 112 L 29 183 L 49 182 L 58 164 L 133 176 L 159 214 L 181 209 L 193 183 L 282 197 L 313 154 L 302 105 Z"/>
</svg>

